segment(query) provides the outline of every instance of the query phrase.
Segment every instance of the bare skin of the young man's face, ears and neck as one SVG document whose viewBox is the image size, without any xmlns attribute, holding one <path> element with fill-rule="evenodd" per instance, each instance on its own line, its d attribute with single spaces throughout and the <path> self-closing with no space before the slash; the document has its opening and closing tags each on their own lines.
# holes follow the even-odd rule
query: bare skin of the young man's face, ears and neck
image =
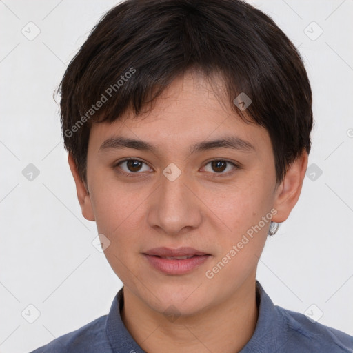
<svg viewBox="0 0 353 353">
<path fill-rule="evenodd" d="M 222 88 L 221 79 L 215 82 Z M 99 234 L 110 240 L 105 256 L 124 284 L 123 322 L 146 352 L 234 353 L 244 347 L 258 318 L 256 266 L 270 222 L 212 279 L 205 272 L 272 208 L 272 221 L 285 221 L 301 192 L 306 152 L 276 185 L 268 132 L 241 121 L 213 92 L 201 74 L 189 72 L 175 79 L 150 113 L 94 124 L 87 183 L 68 157 L 83 216 L 96 221 Z M 250 142 L 254 150 L 190 154 L 194 143 L 225 135 Z M 106 139 L 117 136 L 148 141 L 157 151 L 99 152 Z M 130 169 L 127 163 L 117 165 L 128 157 L 143 163 Z M 212 168 L 210 161 L 224 160 L 230 163 L 223 169 Z M 174 181 L 163 174 L 170 163 L 181 171 Z M 161 246 L 190 246 L 212 256 L 188 274 L 167 275 L 142 254 Z"/>
</svg>

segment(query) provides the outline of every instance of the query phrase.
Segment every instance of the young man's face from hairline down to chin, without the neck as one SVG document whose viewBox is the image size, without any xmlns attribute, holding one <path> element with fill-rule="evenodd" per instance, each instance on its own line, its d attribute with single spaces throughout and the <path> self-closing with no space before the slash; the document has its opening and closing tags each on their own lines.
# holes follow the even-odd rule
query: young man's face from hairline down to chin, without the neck
<svg viewBox="0 0 353 353">
<path fill-rule="evenodd" d="M 188 74 L 149 114 L 92 126 L 89 194 L 78 194 L 125 288 L 156 312 L 195 314 L 254 281 L 270 221 L 283 221 L 296 202 L 285 194 L 294 179 L 300 184 L 293 177 L 276 188 L 268 132 Z"/>
</svg>

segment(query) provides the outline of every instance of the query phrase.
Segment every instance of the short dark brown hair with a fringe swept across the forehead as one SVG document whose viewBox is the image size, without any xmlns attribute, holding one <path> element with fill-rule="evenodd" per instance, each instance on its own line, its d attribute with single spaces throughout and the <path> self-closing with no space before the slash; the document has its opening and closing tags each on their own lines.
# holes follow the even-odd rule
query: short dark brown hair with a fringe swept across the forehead
<svg viewBox="0 0 353 353">
<path fill-rule="evenodd" d="M 239 0 L 127 0 L 93 28 L 59 86 L 64 145 L 83 181 L 92 122 L 116 121 L 130 109 L 137 116 L 190 69 L 221 73 L 243 119 L 233 102 L 241 92 L 250 97 L 246 114 L 270 134 L 277 183 L 303 149 L 310 152 L 310 82 L 270 17 Z"/>
</svg>

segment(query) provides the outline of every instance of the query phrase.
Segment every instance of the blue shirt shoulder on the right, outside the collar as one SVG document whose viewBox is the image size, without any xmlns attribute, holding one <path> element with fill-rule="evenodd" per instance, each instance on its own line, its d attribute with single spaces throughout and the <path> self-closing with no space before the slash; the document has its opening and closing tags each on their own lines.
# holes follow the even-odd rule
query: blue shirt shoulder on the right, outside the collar
<svg viewBox="0 0 353 353">
<path fill-rule="evenodd" d="M 351 352 L 353 336 L 345 332 L 310 321 L 304 314 L 275 305 L 283 316 L 288 333 L 288 344 L 293 352 Z M 288 345 L 287 345 L 288 347 Z M 292 352 L 291 350 L 288 350 Z"/>
</svg>

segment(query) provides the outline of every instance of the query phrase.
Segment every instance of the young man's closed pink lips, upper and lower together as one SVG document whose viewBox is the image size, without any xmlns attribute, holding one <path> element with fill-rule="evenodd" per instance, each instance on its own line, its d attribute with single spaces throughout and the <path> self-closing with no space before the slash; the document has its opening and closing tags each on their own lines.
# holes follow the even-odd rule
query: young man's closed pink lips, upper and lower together
<svg viewBox="0 0 353 353">
<path fill-rule="evenodd" d="M 211 256 L 194 248 L 154 248 L 143 255 L 156 270 L 171 275 L 188 273 Z"/>
</svg>

